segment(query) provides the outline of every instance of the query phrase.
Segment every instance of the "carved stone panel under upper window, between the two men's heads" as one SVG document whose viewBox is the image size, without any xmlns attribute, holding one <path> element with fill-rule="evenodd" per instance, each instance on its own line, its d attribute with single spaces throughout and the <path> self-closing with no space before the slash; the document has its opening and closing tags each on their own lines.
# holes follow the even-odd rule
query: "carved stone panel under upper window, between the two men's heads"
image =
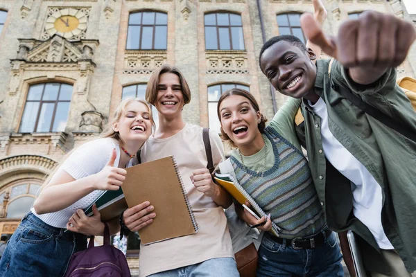
<svg viewBox="0 0 416 277">
<path fill-rule="evenodd" d="M 206 51 L 207 73 L 248 73 L 245 51 Z"/>
</svg>

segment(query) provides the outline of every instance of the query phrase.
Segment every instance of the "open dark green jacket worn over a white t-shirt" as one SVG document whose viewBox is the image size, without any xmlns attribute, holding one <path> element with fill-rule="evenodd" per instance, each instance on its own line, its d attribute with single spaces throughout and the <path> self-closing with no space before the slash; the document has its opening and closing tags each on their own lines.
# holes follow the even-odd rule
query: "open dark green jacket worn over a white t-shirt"
<svg viewBox="0 0 416 277">
<path fill-rule="evenodd" d="M 416 143 L 345 100 L 331 88 L 329 78 L 415 132 L 416 113 L 396 84 L 395 69 L 388 70 L 373 84 L 363 86 L 352 81 L 337 61 L 331 66 L 331 76 L 328 68 L 329 60 L 318 60 L 315 92 L 327 105 L 329 129 L 380 184 L 383 229 L 408 271 L 413 272 L 416 270 Z M 388 272 L 372 233 L 354 217 L 350 181 L 324 157 L 320 117 L 314 114 L 307 100 L 302 102 L 302 114 L 309 166 L 329 227 L 358 234 L 365 268 Z"/>
</svg>

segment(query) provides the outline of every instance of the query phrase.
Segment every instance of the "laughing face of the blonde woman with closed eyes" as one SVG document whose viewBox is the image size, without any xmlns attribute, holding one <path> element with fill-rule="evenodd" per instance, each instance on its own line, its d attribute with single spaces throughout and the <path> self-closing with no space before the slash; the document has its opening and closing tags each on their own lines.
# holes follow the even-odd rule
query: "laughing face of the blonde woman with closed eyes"
<svg viewBox="0 0 416 277">
<path fill-rule="evenodd" d="M 120 120 L 114 123 L 113 129 L 119 132 L 125 144 L 144 143 L 152 134 L 152 120 L 148 106 L 139 101 L 131 101 L 125 106 Z"/>
</svg>

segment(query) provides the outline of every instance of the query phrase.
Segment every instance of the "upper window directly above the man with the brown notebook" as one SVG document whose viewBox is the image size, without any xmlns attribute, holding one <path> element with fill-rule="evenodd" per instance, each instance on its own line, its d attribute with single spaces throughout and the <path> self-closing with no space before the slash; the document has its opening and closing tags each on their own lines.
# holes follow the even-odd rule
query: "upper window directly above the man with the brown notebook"
<svg viewBox="0 0 416 277">
<path fill-rule="evenodd" d="M 133 12 L 128 17 L 126 49 L 166 50 L 168 15 L 164 12 Z"/>
</svg>

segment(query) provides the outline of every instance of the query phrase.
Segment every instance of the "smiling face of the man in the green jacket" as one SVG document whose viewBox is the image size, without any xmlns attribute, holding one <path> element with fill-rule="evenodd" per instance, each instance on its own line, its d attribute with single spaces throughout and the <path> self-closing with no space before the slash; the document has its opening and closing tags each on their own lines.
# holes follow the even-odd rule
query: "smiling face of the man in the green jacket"
<svg viewBox="0 0 416 277">
<path fill-rule="evenodd" d="M 266 49 L 261 55 L 261 71 L 280 93 L 293 98 L 302 98 L 313 93 L 316 67 L 311 49 L 307 53 L 290 42 L 281 40 Z"/>
</svg>

